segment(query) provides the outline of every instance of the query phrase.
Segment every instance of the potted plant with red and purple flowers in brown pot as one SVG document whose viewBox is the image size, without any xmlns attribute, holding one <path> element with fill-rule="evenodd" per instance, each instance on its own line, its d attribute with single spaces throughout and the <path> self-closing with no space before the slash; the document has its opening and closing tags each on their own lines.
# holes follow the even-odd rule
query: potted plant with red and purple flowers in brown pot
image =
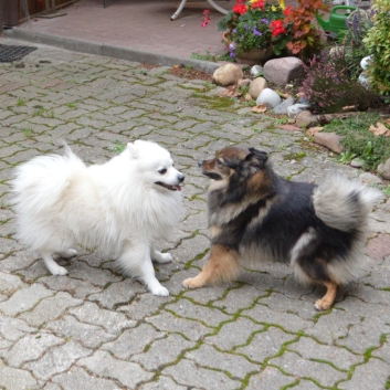
<svg viewBox="0 0 390 390">
<path fill-rule="evenodd" d="M 238 62 L 262 64 L 273 54 L 280 55 L 292 39 L 289 24 L 284 18 L 292 8 L 283 9 L 263 0 L 236 0 L 236 4 L 218 23 L 224 31 L 229 55 Z"/>
</svg>

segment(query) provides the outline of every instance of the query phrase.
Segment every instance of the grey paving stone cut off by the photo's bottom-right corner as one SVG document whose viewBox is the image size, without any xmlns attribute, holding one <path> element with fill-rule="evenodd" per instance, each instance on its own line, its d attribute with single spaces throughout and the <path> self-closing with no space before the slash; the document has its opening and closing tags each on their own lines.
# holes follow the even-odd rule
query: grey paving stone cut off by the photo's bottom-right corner
<svg viewBox="0 0 390 390">
<path fill-rule="evenodd" d="M 388 387 L 390 365 L 378 359 L 370 359 L 367 363 L 355 368 L 349 381 L 339 383 L 342 390 L 370 389 L 382 390 Z"/>
</svg>

